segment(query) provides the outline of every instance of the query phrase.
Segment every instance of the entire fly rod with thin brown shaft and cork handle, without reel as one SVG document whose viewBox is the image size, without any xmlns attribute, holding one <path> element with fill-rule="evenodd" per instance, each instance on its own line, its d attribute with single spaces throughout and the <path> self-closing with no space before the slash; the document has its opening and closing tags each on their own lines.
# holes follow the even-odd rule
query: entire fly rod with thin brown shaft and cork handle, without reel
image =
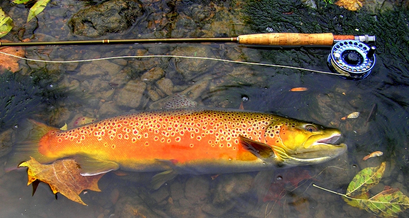
<svg viewBox="0 0 409 218">
<path fill-rule="evenodd" d="M 332 33 L 260 33 L 240 35 L 231 38 L 163 38 L 163 39 L 99 39 L 72 41 L 37 41 L 37 42 L 0 42 L 0 46 L 35 46 L 35 45 L 77 45 L 77 44 L 120 44 L 120 43 L 170 43 L 170 42 L 236 42 L 247 45 L 271 46 L 332 46 L 338 41 L 356 40 L 363 43 L 374 43 L 375 36 L 368 35 L 333 35 Z"/>
</svg>

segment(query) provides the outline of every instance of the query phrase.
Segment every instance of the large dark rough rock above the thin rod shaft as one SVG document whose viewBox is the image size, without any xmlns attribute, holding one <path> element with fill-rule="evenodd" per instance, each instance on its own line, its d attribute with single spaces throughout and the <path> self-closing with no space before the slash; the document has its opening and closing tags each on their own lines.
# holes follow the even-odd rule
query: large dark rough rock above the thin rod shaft
<svg viewBox="0 0 409 218">
<path fill-rule="evenodd" d="M 143 13 L 139 1 L 112 0 L 78 11 L 69 25 L 75 35 L 100 37 L 129 29 Z"/>
</svg>

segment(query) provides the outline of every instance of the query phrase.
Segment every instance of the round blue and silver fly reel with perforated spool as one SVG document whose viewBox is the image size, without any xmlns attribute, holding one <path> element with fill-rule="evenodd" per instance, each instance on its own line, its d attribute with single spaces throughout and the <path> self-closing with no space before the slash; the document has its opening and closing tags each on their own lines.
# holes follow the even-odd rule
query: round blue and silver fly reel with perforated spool
<svg viewBox="0 0 409 218">
<path fill-rule="evenodd" d="M 339 41 L 332 47 L 327 65 L 341 78 L 361 80 L 368 77 L 375 65 L 375 50 L 374 45 L 357 40 Z"/>
</svg>

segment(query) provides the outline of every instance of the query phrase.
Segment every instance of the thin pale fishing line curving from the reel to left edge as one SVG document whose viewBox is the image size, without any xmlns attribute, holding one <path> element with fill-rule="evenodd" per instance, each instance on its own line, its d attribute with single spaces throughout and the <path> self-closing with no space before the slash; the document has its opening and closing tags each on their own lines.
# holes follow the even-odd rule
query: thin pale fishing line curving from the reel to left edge
<svg viewBox="0 0 409 218">
<path fill-rule="evenodd" d="M 321 73 L 321 74 L 330 74 L 330 75 L 339 76 L 339 74 L 335 74 L 333 72 L 320 71 L 320 70 L 314 70 L 314 69 L 307 69 L 307 68 L 302 68 L 302 67 L 285 66 L 285 65 L 278 65 L 278 64 L 263 64 L 263 63 L 254 63 L 254 62 L 245 62 L 245 61 L 232 61 L 232 60 L 225 60 L 225 59 L 220 59 L 220 58 L 190 57 L 190 56 L 179 56 L 179 55 L 116 56 L 116 57 L 108 57 L 108 58 L 95 58 L 95 59 L 73 60 L 73 61 L 47 61 L 47 60 L 36 60 L 36 59 L 31 59 L 31 58 L 18 57 L 16 55 L 12 55 L 12 54 L 5 53 L 5 52 L 0 52 L 0 54 L 16 57 L 16 58 L 27 60 L 27 61 L 46 62 L 46 63 L 78 63 L 78 62 L 88 62 L 88 61 L 110 60 L 110 59 L 117 59 L 117 58 L 188 58 L 188 59 L 204 59 L 204 60 L 223 61 L 223 62 L 229 62 L 229 63 L 251 64 L 251 65 L 259 65 L 259 66 L 270 66 L 270 67 L 282 67 L 282 68 L 289 68 L 289 69 L 298 69 L 298 70 L 305 70 L 305 71 L 310 71 L 310 72 L 318 72 L 318 73 Z"/>
</svg>

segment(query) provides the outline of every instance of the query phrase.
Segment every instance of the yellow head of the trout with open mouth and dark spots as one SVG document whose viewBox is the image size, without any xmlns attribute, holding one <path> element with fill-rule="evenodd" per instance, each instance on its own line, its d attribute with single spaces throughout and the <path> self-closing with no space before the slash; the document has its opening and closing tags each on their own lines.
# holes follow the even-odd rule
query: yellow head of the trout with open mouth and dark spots
<svg viewBox="0 0 409 218">
<path fill-rule="evenodd" d="M 291 118 L 276 118 L 266 127 L 264 138 L 276 155 L 278 165 L 309 165 L 331 160 L 347 150 L 335 144 L 341 132 Z"/>
</svg>

